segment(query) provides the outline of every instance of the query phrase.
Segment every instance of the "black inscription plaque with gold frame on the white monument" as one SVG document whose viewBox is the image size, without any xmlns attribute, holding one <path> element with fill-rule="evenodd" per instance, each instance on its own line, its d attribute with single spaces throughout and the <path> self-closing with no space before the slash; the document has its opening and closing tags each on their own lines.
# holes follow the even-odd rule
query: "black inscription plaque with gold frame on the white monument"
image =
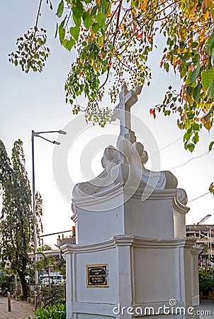
<svg viewBox="0 0 214 319">
<path fill-rule="evenodd" d="M 87 287 L 108 287 L 107 264 L 86 265 L 86 286 Z"/>
</svg>

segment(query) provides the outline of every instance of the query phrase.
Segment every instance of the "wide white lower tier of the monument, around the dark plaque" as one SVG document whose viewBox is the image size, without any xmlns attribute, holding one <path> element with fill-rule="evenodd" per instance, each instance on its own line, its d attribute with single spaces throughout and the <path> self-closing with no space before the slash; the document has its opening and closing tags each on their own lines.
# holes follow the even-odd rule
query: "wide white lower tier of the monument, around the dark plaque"
<svg viewBox="0 0 214 319">
<path fill-rule="evenodd" d="M 67 262 L 67 319 L 199 318 L 194 240 L 118 235 L 62 247 Z M 105 264 L 106 287 L 87 286 L 86 265 Z"/>
</svg>

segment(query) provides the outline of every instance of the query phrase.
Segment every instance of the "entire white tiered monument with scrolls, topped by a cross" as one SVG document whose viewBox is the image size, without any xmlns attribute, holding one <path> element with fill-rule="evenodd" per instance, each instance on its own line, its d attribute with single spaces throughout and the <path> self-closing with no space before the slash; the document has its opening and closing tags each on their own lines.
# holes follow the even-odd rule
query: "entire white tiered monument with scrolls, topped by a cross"
<svg viewBox="0 0 214 319">
<path fill-rule="evenodd" d="M 186 239 L 187 196 L 176 177 L 145 169 L 147 152 L 130 129 L 140 91 L 123 86 L 112 118 L 117 148 L 106 148 L 98 177 L 74 187 L 77 245 L 62 247 L 67 319 L 198 318 L 201 249 Z"/>
</svg>

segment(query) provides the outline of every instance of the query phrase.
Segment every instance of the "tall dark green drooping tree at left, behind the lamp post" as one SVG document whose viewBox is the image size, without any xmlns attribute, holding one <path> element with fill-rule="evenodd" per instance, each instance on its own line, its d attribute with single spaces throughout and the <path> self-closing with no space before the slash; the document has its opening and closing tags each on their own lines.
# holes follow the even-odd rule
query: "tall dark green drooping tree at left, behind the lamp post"
<svg viewBox="0 0 214 319">
<path fill-rule="evenodd" d="M 14 142 L 11 160 L 4 143 L 0 140 L 0 191 L 3 199 L 0 216 L 0 257 L 3 264 L 9 261 L 11 271 L 18 274 L 26 298 L 28 294 L 26 274 L 30 263 L 28 252 L 33 250 L 34 218 L 21 140 Z M 40 194 L 37 194 L 35 223 L 38 231 L 41 205 Z"/>
</svg>

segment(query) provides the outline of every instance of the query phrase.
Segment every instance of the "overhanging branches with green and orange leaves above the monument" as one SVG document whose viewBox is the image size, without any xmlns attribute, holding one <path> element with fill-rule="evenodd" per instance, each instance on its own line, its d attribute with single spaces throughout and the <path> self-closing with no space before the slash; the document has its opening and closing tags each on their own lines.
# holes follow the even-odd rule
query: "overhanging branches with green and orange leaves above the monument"
<svg viewBox="0 0 214 319">
<path fill-rule="evenodd" d="M 52 9 L 50 0 L 47 5 Z M 23 71 L 41 72 L 50 50 L 46 31 L 38 28 L 42 0 L 34 28 L 18 38 L 18 50 L 9 55 Z M 162 33 L 166 46 L 160 67 L 174 69 L 182 84 L 171 86 L 164 101 L 150 109 L 169 116 L 178 113 L 178 126 L 185 131 L 184 147 L 191 152 L 202 128 L 213 126 L 214 99 L 214 2 L 213 0 L 60 0 L 56 9 L 56 36 L 66 50 L 76 50 L 64 89 L 73 113 L 85 111 L 86 120 L 103 126 L 111 110 L 101 108 L 104 88 L 111 79 L 111 101 L 123 82 L 150 85 L 149 53 Z M 82 108 L 77 97 L 88 101 Z M 210 143 L 212 149 L 214 141 Z"/>
</svg>

